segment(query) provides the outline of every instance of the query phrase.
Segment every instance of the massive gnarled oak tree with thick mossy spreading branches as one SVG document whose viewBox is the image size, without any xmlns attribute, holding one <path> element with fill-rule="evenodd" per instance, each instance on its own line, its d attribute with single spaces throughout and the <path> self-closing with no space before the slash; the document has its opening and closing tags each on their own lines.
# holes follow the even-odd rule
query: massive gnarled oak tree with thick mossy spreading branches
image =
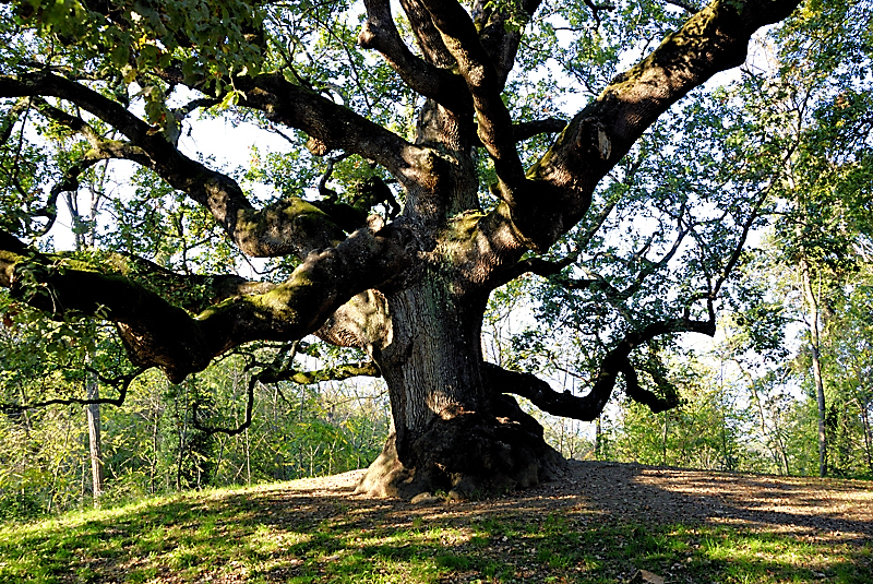
<svg viewBox="0 0 873 584">
<path fill-rule="evenodd" d="M 0 285 L 51 318 L 113 323 L 132 363 L 160 368 L 174 382 L 251 342 L 314 334 L 358 347 L 372 362 L 334 372 L 381 374 L 393 414 L 392 434 L 361 490 L 464 497 L 535 485 L 559 475 L 562 460 L 512 395 L 590 420 L 621 379 L 630 397 L 654 410 L 675 405 L 675 395 L 658 392 L 659 374 L 641 382 L 634 355 L 662 336 L 714 333 L 719 294 L 742 246 L 728 246 L 717 270 L 704 266 L 698 288 L 669 293 L 681 296 L 671 298 L 678 310 L 615 325 L 582 396 L 485 361 L 489 296 L 535 273 L 620 306 L 665 270 L 695 234 L 684 205 L 660 257 L 649 257 L 655 236 L 634 250 L 625 289 L 577 269 L 621 204 L 613 193 L 593 206 L 598 184 L 671 105 L 741 64 L 752 35 L 799 3 L 651 3 L 677 29 L 610 74 L 566 121 L 516 107 L 525 80 L 543 74 L 536 65 L 548 56 L 537 43 L 547 33 L 560 39 L 562 28 L 590 39 L 601 19 L 631 14 L 624 2 L 4 2 L 0 130 L 3 187 L 13 202 L 3 206 Z M 360 14 L 357 38 L 337 24 L 347 22 L 343 11 Z M 638 50 L 634 27 L 643 36 L 651 31 L 627 25 L 627 48 Z M 311 57 L 325 45 L 343 51 L 345 64 Z M 582 45 L 563 47 L 563 64 L 597 85 L 597 59 L 572 52 Z M 397 122 L 404 104 L 416 109 L 407 116 L 411 128 Z M 304 144 L 326 162 L 318 189 L 289 192 L 274 181 L 264 196 L 238 174 L 188 153 L 180 133 L 195 111 L 247 117 Z M 33 120 L 80 140 L 45 176 L 21 145 L 34 139 Z M 148 169 L 202 206 L 242 254 L 291 258 L 292 271 L 255 282 L 168 270 L 137 249 L 75 254 L 32 245 L 55 221 L 58 196 L 116 159 Z M 330 189 L 334 167 L 349 160 L 366 162 L 358 168 L 368 176 L 343 192 Z M 28 163 L 34 169 L 22 170 Z M 387 203 L 382 215 L 380 203 Z M 752 224 L 733 227 L 744 237 Z M 555 243 L 570 234 L 573 245 L 559 253 Z"/>
</svg>

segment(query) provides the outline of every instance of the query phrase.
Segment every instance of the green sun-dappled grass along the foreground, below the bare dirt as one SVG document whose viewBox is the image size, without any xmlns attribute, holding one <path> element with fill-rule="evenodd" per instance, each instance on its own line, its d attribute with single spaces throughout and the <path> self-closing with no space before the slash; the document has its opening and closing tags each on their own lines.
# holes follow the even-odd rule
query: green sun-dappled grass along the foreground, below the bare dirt
<svg viewBox="0 0 873 584">
<path fill-rule="evenodd" d="M 289 485 L 217 490 L 0 528 L 0 582 L 870 583 L 873 544 L 725 525 L 416 508 Z"/>
</svg>

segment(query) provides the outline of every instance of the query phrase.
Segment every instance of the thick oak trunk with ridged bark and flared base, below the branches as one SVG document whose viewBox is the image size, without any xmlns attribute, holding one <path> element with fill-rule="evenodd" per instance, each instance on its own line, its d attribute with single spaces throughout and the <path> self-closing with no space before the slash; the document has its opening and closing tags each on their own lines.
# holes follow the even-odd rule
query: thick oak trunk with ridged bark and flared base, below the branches
<svg viewBox="0 0 873 584">
<path fill-rule="evenodd" d="M 479 336 L 487 296 L 453 293 L 458 287 L 432 270 L 388 298 L 392 339 L 374 357 L 393 428 L 358 492 L 477 498 L 537 485 L 563 468 L 542 427 L 489 384 Z"/>
</svg>

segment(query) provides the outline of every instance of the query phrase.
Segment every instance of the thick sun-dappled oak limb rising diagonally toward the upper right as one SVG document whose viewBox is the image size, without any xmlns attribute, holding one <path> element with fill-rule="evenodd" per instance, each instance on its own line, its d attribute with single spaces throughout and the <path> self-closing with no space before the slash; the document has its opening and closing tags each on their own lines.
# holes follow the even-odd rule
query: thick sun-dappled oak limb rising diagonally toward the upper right
<svg viewBox="0 0 873 584">
<path fill-rule="evenodd" d="M 716 0 L 617 76 L 528 171 L 536 186 L 511 207 L 528 247 L 548 249 L 575 225 L 600 179 L 667 108 L 715 73 L 741 64 L 752 34 L 799 3 Z"/>
</svg>

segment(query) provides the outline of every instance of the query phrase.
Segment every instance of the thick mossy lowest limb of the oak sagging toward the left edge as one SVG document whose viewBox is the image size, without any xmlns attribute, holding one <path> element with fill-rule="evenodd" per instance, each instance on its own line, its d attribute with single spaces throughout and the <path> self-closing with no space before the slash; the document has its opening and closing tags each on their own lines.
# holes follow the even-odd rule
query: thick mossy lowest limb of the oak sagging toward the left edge
<svg viewBox="0 0 873 584">
<path fill-rule="evenodd" d="M 10 245 L 0 251 L 0 286 L 11 296 L 57 318 L 86 314 L 115 322 L 131 361 L 159 367 L 174 382 L 242 343 L 312 333 L 349 298 L 408 272 L 419 251 L 403 226 L 375 234 L 360 229 L 335 248 L 310 253 L 286 282 L 192 317 L 118 271 L 29 249 L 21 253 L 15 238 L 2 240 Z"/>
</svg>

